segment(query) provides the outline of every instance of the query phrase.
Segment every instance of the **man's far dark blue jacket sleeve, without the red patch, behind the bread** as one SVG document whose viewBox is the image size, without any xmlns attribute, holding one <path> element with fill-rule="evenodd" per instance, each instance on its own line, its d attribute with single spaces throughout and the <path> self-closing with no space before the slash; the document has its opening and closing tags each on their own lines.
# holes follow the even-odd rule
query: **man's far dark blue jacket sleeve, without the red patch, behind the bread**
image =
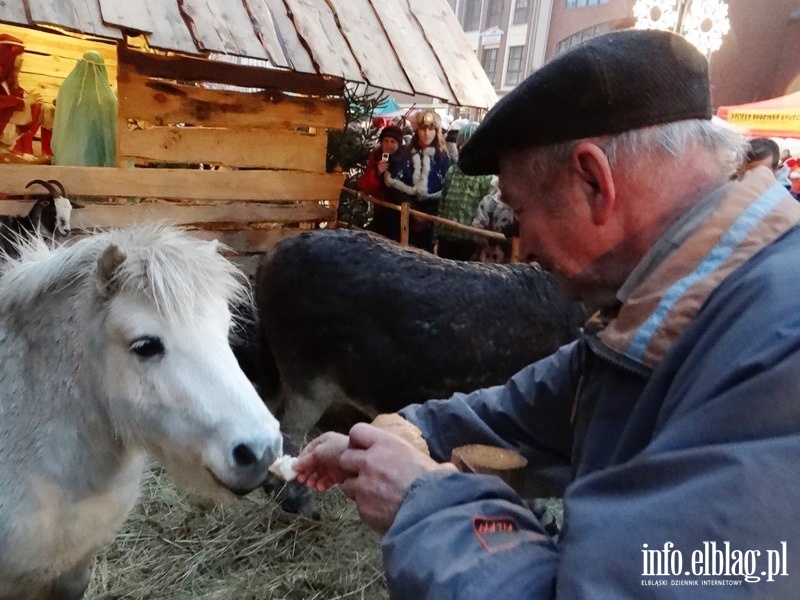
<svg viewBox="0 0 800 600">
<path fill-rule="evenodd" d="M 412 404 L 400 414 L 422 430 L 431 456 L 439 461 L 449 460 L 457 446 L 488 444 L 513 448 L 530 464 L 552 463 L 554 457 L 567 464 L 582 348 L 573 342 L 504 385 Z"/>
</svg>

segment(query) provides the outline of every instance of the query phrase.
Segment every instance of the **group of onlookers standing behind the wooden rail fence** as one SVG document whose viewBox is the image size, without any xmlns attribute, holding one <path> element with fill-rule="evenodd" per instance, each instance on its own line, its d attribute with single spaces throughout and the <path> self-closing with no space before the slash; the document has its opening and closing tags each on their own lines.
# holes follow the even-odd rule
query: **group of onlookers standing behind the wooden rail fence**
<svg viewBox="0 0 800 600">
<path fill-rule="evenodd" d="M 456 162 L 459 149 L 477 127 L 476 122 L 457 119 L 445 131 L 433 109 L 418 111 L 410 121 L 387 125 L 369 156 L 359 191 L 396 205 L 408 202 L 413 210 L 461 225 L 513 235 L 510 211 L 505 210 L 506 218 L 502 217 L 505 205 L 496 179 L 492 185 L 491 175 L 467 175 Z M 398 240 L 399 212 L 374 205 L 370 229 Z M 501 242 L 419 217 L 410 220 L 409 243 L 456 260 L 499 262 L 507 254 Z"/>
</svg>

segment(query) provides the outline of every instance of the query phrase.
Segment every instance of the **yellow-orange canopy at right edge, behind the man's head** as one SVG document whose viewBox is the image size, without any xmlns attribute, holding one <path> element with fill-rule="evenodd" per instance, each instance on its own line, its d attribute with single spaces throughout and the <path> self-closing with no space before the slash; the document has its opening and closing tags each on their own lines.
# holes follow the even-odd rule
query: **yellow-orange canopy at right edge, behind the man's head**
<svg viewBox="0 0 800 600">
<path fill-rule="evenodd" d="M 800 138 L 800 92 L 761 102 L 721 106 L 717 116 L 761 137 Z"/>
</svg>

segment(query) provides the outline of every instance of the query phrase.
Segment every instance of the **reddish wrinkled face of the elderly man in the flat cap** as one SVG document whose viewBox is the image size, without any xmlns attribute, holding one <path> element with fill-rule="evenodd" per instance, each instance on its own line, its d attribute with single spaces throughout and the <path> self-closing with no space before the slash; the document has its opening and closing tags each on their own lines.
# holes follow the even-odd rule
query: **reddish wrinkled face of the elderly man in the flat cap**
<svg viewBox="0 0 800 600">
<path fill-rule="evenodd" d="M 615 189 L 625 185 L 623 175 L 617 185 L 593 175 L 607 160 L 598 149 L 581 142 L 550 167 L 537 166 L 525 151 L 504 153 L 500 191 L 519 222 L 521 259 L 538 261 L 568 295 L 602 308 L 618 302 L 617 291 L 641 259 L 642 240 L 657 239 L 648 228 L 659 220 L 621 200 Z M 590 157 L 594 171 L 585 167 Z"/>
</svg>

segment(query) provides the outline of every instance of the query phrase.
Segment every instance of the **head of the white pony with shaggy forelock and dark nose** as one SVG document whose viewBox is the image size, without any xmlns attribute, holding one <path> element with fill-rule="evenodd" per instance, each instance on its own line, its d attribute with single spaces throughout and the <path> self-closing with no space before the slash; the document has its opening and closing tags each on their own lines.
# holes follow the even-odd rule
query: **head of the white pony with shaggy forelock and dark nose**
<svg viewBox="0 0 800 600">
<path fill-rule="evenodd" d="M 282 438 L 228 343 L 244 277 L 215 243 L 153 226 L 110 234 L 96 264 L 96 343 L 117 431 L 195 486 L 254 489 Z"/>
</svg>

